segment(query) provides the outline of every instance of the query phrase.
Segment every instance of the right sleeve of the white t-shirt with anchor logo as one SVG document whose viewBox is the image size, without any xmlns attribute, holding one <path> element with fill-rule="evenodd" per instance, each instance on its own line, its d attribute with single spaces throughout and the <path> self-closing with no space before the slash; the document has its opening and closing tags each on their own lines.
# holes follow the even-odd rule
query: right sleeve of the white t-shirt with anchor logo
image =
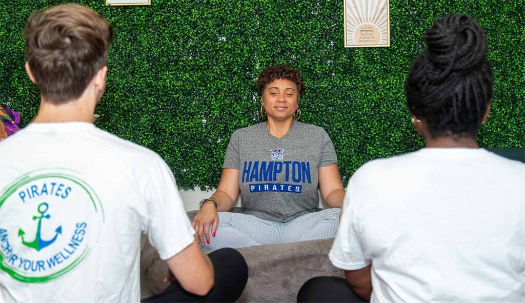
<svg viewBox="0 0 525 303">
<path fill-rule="evenodd" d="M 161 259 L 166 260 L 193 243 L 195 230 L 184 210 L 175 177 L 160 157 L 149 169 L 148 177 L 148 238 Z"/>
</svg>

